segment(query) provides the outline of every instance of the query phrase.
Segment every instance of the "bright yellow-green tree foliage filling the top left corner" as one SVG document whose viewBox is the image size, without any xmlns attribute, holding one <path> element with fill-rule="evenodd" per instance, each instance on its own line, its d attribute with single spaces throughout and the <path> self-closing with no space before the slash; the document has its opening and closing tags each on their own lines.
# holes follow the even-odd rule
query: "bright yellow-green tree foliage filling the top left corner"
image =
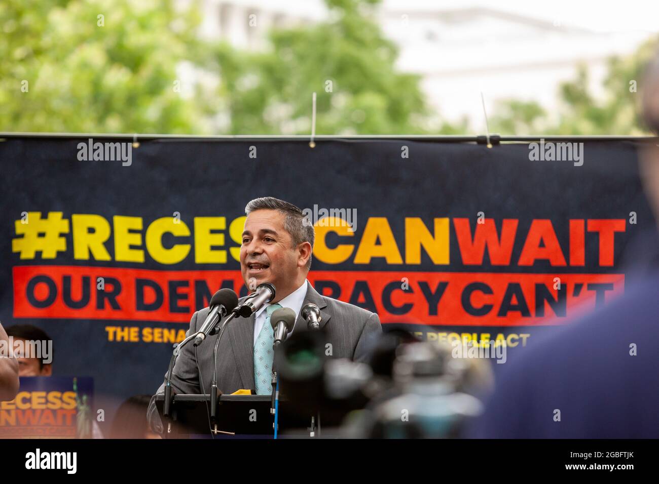
<svg viewBox="0 0 659 484">
<path fill-rule="evenodd" d="M 204 103 L 174 84 L 198 23 L 168 1 L 3 0 L 0 130 L 202 130 Z"/>
</svg>

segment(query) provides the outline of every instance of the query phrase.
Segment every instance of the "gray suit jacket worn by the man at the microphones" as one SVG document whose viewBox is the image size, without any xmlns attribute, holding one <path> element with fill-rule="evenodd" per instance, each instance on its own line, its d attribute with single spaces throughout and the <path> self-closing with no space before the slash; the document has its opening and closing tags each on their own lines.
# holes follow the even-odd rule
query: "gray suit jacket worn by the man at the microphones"
<svg viewBox="0 0 659 484">
<path fill-rule="evenodd" d="M 332 357 L 348 358 L 356 362 L 367 360 L 370 343 L 382 333 L 378 315 L 352 304 L 321 296 L 307 282 L 306 296 L 302 306 L 310 302 L 320 308 L 322 316 L 320 326 L 324 328 L 329 342 L 332 344 Z M 208 312 L 209 308 L 204 308 L 192 315 L 190 329 L 186 336 L 199 331 Z M 306 321 L 301 314 L 293 328 L 293 333 L 297 331 L 307 331 Z M 215 338 L 212 337 L 197 348 L 202 383 L 206 393 L 210 392 L 211 388 L 214 346 Z M 186 344 L 177 358 L 171 384 L 176 393 L 202 393 L 200 372 L 195 363 L 192 343 Z M 160 385 L 156 394 L 163 393 L 164 387 L 164 383 Z M 217 388 L 223 394 L 230 394 L 240 389 L 256 390 L 254 383 L 254 315 L 234 319 L 227 325 L 217 348 Z M 155 395 L 149 404 L 147 417 L 152 430 L 162 433 L 163 425 L 156 408 Z"/>
</svg>

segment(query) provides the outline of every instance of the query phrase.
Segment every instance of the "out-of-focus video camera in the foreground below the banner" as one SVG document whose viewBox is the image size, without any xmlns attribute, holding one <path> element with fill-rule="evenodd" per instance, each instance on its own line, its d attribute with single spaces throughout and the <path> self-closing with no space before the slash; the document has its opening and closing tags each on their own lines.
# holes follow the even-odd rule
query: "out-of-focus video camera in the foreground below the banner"
<svg viewBox="0 0 659 484">
<path fill-rule="evenodd" d="M 458 437 L 492 386 L 488 362 L 454 358 L 451 345 L 406 331 L 384 333 L 368 363 L 331 358 L 327 340 L 323 331 L 296 333 L 275 355 L 287 406 L 322 417 L 325 436 Z"/>
</svg>

